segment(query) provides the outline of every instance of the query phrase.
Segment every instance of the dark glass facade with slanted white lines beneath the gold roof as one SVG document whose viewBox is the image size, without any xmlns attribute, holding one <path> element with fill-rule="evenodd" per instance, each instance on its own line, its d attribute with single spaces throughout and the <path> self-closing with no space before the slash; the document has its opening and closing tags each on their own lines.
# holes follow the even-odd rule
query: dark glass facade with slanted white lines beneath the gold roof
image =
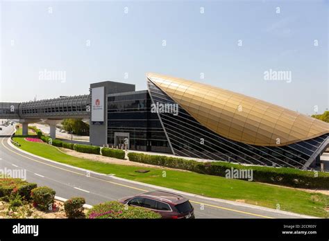
<svg viewBox="0 0 329 241">
<path fill-rule="evenodd" d="M 165 92 L 148 82 L 153 102 L 178 105 Z M 284 146 L 259 146 L 226 139 L 201 125 L 178 105 L 178 115 L 159 113 L 174 153 L 179 156 L 213 159 L 262 166 L 303 168 L 314 153 L 328 143 L 329 134 Z"/>
</svg>

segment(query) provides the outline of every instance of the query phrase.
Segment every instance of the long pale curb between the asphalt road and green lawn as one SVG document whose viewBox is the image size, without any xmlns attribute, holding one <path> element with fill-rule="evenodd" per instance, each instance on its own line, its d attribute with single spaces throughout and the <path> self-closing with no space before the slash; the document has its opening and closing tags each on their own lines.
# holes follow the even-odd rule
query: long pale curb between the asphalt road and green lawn
<svg viewBox="0 0 329 241">
<path fill-rule="evenodd" d="M 180 191 L 180 190 L 175 190 L 175 189 L 172 189 L 172 188 L 165 188 L 165 187 L 161 187 L 161 186 L 155 186 L 155 185 L 152 185 L 152 184 L 145 184 L 145 183 L 142 183 L 142 182 L 139 182 L 139 181 L 131 181 L 131 180 L 124 179 L 124 178 L 121 178 L 121 177 L 110 176 L 110 175 L 106 175 L 106 174 L 103 174 L 103 173 L 87 170 L 87 169 L 84 169 L 84 168 L 78 168 L 78 167 L 75 167 L 75 166 L 70 166 L 70 165 L 65 164 L 65 163 L 60 163 L 60 162 L 57 162 L 57 161 L 46 159 L 44 157 L 37 156 L 37 155 L 32 154 L 30 152 L 26 152 L 24 150 L 21 150 L 20 148 L 17 148 L 15 145 L 13 145 L 10 142 L 10 139 L 8 139 L 7 143 L 12 148 L 15 148 L 16 150 L 18 150 L 19 152 L 23 152 L 24 154 L 28 154 L 32 157 L 36 157 L 36 158 L 42 159 L 44 161 L 49 161 L 51 163 L 56 163 L 60 166 L 66 166 L 68 168 L 72 168 L 72 169 L 76 169 L 76 170 L 81 170 L 83 172 L 90 172 L 94 175 L 99 175 L 101 177 L 105 176 L 105 177 L 110 177 L 112 179 L 125 181 L 125 182 L 131 183 L 131 184 L 137 184 L 137 185 L 140 185 L 140 186 L 147 186 L 149 188 L 154 188 L 155 190 L 166 190 L 166 191 L 178 193 L 180 195 L 187 195 L 187 196 L 190 196 L 190 197 L 197 197 L 197 198 L 209 200 L 209 201 L 212 201 L 212 202 L 231 204 L 231 205 L 234 205 L 234 206 L 241 206 L 241 207 L 245 207 L 245 208 L 253 208 L 253 209 L 258 209 L 260 211 L 268 211 L 268 212 L 271 212 L 271 213 L 291 215 L 291 216 L 294 216 L 294 217 L 307 218 L 307 219 L 319 218 L 319 217 L 313 217 L 313 216 L 309 216 L 309 215 L 302 215 L 302 214 L 298 214 L 298 213 L 291 213 L 291 212 L 288 212 L 288 211 L 281 211 L 281 210 L 276 210 L 276 209 L 272 209 L 272 208 L 266 208 L 266 207 L 262 207 L 262 206 L 256 206 L 256 205 L 253 205 L 253 204 L 244 204 L 244 203 L 240 203 L 240 202 L 234 202 L 234 201 L 230 201 L 230 200 L 226 200 L 226 199 L 218 199 L 218 198 L 213 198 L 213 197 L 204 197 L 204 196 L 201 196 L 201 195 L 196 195 L 196 194 L 193 194 L 193 193 L 187 193 L 187 192 L 183 192 L 183 191 Z"/>
</svg>

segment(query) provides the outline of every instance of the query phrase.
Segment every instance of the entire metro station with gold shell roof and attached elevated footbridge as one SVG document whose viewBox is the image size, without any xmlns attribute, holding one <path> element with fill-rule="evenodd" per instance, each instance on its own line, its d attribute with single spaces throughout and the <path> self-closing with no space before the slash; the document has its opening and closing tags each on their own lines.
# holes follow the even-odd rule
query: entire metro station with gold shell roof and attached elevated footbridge
<svg viewBox="0 0 329 241">
<path fill-rule="evenodd" d="M 310 116 L 191 80 L 148 73 L 146 81 L 144 91 L 98 82 L 90 95 L 0 110 L 15 104 L 23 123 L 90 118 L 92 145 L 234 163 L 309 169 L 329 147 L 329 124 Z"/>
</svg>

